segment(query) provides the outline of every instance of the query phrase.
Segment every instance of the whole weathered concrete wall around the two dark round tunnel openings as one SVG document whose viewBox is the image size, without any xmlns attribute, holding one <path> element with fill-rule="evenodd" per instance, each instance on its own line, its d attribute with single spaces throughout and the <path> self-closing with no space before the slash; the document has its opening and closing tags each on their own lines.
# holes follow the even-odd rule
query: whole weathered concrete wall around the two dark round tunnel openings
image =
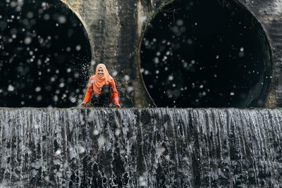
<svg viewBox="0 0 282 188">
<path fill-rule="evenodd" d="M 92 58 L 105 63 L 125 107 L 154 106 L 140 74 L 140 40 L 147 23 L 168 0 L 61 0 L 82 20 Z M 223 0 L 217 0 L 223 1 Z M 225 2 L 234 0 L 224 0 Z M 239 0 L 264 27 L 274 54 L 274 76 L 266 107 L 282 106 L 281 0 Z M 92 68 L 93 72 L 93 68 Z"/>
</svg>

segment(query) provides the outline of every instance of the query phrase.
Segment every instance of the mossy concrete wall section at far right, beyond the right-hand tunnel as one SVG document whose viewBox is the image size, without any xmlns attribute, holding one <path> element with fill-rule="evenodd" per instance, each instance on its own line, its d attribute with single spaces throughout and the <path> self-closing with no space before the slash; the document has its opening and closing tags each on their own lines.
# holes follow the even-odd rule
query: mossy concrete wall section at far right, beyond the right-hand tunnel
<svg viewBox="0 0 282 188">
<path fill-rule="evenodd" d="M 282 106 L 282 1 L 281 0 L 240 0 L 264 27 L 273 52 L 274 75 L 266 107 Z"/>
</svg>

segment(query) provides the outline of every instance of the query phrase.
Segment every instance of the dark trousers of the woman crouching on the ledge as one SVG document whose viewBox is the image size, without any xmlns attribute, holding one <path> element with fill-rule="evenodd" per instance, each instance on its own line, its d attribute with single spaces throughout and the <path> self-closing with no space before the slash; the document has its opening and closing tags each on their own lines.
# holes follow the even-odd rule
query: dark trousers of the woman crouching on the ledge
<svg viewBox="0 0 282 188">
<path fill-rule="evenodd" d="M 91 103 L 94 107 L 109 107 L 111 91 L 108 85 L 103 85 L 101 95 L 94 95 L 91 98 Z"/>
</svg>

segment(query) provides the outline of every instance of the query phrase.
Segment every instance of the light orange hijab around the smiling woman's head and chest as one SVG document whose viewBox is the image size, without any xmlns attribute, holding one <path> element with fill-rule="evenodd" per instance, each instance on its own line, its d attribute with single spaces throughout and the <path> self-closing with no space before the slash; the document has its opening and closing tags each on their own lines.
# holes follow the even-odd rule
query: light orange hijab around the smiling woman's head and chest
<svg viewBox="0 0 282 188">
<path fill-rule="evenodd" d="M 99 68 L 102 68 L 103 71 L 104 71 L 103 77 L 98 76 L 98 69 Z M 111 75 L 109 75 L 108 70 L 106 70 L 106 65 L 104 65 L 103 63 L 98 64 L 97 67 L 96 67 L 96 73 L 94 75 L 94 82 L 93 82 L 94 94 L 101 94 L 101 88 L 103 87 L 103 85 L 105 85 L 105 84 L 109 85 L 111 80 L 114 80 L 114 79 L 113 79 L 113 77 L 111 77 Z"/>
</svg>

